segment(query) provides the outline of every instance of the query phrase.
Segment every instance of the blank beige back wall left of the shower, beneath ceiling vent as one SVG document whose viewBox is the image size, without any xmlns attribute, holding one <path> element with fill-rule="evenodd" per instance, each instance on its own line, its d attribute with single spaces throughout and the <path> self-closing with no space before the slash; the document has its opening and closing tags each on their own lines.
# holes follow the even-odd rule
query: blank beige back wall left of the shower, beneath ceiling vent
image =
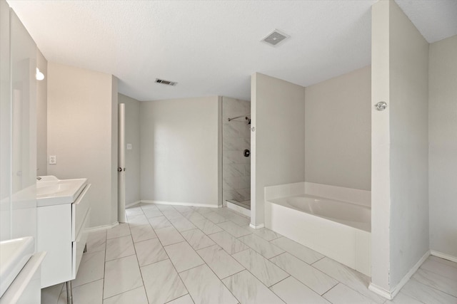
<svg viewBox="0 0 457 304">
<path fill-rule="evenodd" d="M 217 206 L 219 98 L 141 102 L 141 200 Z"/>
</svg>

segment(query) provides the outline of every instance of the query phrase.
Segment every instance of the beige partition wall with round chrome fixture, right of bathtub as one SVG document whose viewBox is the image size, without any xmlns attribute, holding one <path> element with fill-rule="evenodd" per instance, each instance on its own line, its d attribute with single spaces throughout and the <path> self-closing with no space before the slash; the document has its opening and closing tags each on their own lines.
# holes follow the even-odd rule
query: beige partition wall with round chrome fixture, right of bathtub
<svg viewBox="0 0 457 304">
<path fill-rule="evenodd" d="M 392 293 L 428 251 L 428 43 L 394 1 L 372 20 L 372 283 Z"/>
</svg>

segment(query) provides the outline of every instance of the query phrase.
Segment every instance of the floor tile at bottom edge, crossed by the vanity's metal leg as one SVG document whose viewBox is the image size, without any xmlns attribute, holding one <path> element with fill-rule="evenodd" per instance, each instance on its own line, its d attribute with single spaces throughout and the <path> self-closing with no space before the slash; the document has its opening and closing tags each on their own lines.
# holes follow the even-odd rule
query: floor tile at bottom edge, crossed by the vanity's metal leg
<svg viewBox="0 0 457 304">
<path fill-rule="evenodd" d="M 72 290 L 74 303 L 103 303 L 103 280 L 94 281 Z M 66 288 L 64 288 L 59 296 L 59 304 L 66 304 Z"/>
</svg>

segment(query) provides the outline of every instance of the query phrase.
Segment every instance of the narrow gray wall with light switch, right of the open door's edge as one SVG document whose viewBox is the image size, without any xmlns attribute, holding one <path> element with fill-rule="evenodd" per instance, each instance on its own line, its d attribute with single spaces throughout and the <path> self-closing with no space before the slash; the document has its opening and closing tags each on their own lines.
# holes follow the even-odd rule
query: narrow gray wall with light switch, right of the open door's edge
<svg viewBox="0 0 457 304">
<path fill-rule="evenodd" d="M 118 102 L 125 104 L 126 145 L 126 205 L 138 203 L 140 197 L 140 102 L 119 94 Z"/>
</svg>

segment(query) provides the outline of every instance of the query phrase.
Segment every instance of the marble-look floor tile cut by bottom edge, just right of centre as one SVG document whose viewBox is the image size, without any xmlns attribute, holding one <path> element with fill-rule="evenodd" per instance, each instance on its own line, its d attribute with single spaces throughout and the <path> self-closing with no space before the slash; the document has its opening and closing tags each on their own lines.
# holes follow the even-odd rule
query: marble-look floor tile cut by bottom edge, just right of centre
<svg viewBox="0 0 457 304">
<path fill-rule="evenodd" d="M 283 304 L 271 290 L 265 287 L 249 271 L 241 271 L 222 280 L 242 304 Z"/>
</svg>

